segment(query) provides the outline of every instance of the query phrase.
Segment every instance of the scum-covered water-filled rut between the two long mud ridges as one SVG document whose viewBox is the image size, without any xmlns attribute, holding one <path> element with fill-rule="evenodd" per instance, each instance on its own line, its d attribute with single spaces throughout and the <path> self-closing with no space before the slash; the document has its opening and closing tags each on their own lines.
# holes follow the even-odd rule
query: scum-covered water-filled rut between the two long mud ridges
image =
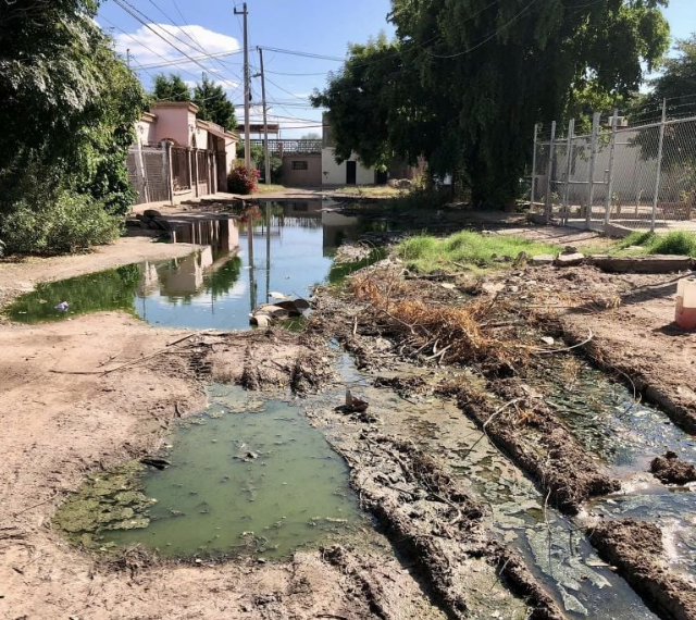
<svg viewBox="0 0 696 620">
<path fill-rule="evenodd" d="M 629 584 L 606 568 L 582 525 L 544 506 L 534 484 L 506 459 L 457 406 L 433 396 L 409 396 L 369 387 L 365 375 L 343 356 L 344 381 L 370 402 L 385 433 L 407 435 L 438 455 L 490 510 L 493 532 L 517 550 L 573 619 L 656 620 Z M 399 376 L 428 379 L 432 371 L 405 367 Z M 451 379 L 451 376 L 450 376 Z M 410 429 L 410 432 L 408 431 Z"/>
</svg>

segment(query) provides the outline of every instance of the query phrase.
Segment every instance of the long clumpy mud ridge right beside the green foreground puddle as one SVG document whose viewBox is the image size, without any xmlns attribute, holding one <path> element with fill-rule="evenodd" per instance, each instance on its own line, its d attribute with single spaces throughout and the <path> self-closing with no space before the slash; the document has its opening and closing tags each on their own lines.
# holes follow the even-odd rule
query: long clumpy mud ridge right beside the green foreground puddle
<svg viewBox="0 0 696 620">
<path fill-rule="evenodd" d="M 414 559 L 452 618 L 471 618 L 472 608 L 485 605 L 480 600 L 485 587 L 475 581 L 482 578 L 488 580 L 488 591 L 490 580 L 504 580 L 511 593 L 524 598 L 529 618 L 563 618 L 522 559 L 488 537 L 483 507 L 434 459 L 409 442 L 366 431 L 346 456 L 362 506 Z M 476 573 L 480 576 L 473 578 Z"/>
</svg>

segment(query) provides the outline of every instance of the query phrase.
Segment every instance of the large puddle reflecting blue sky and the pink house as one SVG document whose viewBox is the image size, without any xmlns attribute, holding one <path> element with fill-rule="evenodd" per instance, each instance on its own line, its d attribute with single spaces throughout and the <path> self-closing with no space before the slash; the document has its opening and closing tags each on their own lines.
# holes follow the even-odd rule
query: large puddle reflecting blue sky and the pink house
<svg viewBox="0 0 696 620">
<path fill-rule="evenodd" d="M 388 224 L 322 210 L 330 206 L 321 200 L 266 202 L 253 222 L 251 247 L 246 223 L 226 218 L 199 221 L 175 233 L 182 243 L 204 245 L 199 252 L 39 284 L 5 313 L 13 321 L 39 323 L 123 310 L 152 325 L 248 330 L 249 313 L 271 301 L 271 293 L 308 297 L 313 286 L 337 282 L 381 258 L 373 252 L 361 263 L 333 265 L 344 240 Z M 55 309 L 62 301 L 70 305 L 66 312 Z"/>
</svg>

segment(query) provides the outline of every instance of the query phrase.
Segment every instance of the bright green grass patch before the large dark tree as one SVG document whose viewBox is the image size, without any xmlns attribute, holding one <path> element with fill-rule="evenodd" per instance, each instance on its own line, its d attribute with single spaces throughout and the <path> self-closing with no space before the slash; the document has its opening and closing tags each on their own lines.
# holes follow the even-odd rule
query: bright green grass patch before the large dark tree
<svg viewBox="0 0 696 620">
<path fill-rule="evenodd" d="M 403 239 L 396 247 L 396 255 L 424 273 L 453 269 L 490 269 L 505 266 L 504 257 L 515 259 L 520 252 L 529 256 L 556 253 L 558 246 L 530 241 L 508 235 L 481 235 L 461 231 L 450 237 L 437 238 L 419 235 Z M 496 260 L 498 259 L 498 260 Z"/>
</svg>

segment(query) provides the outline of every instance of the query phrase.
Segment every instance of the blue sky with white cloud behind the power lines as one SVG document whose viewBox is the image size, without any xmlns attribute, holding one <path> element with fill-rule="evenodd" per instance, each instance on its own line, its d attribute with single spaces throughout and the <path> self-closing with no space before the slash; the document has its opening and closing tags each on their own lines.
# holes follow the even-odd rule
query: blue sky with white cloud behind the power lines
<svg viewBox="0 0 696 620">
<path fill-rule="evenodd" d="M 122 4 L 121 7 L 119 4 Z M 160 33 L 148 29 L 125 10 Z M 132 67 L 146 88 L 158 73 L 175 72 L 194 85 L 203 71 L 222 84 L 237 104 L 241 121 L 243 42 L 241 9 L 237 0 L 107 0 L 97 17 L 112 34 L 116 49 L 130 50 Z M 326 84 L 326 73 L 340 62 L 294 55 L 270 48 L 345 58 L 350 42 L 364 42 L 371 36 L 394 33 L 387 23 L 389 0 L 248 0 L 249 44 L 252 75 L 259 70 L 257 46 L 265 48 L 266 92 L 271 122 L 279 122 L 281 137 L 297 138 L 321 133 L 321 111 L 309 106 L 307 97 Z M 685 38 L 696 32 L 696 0 L 670 0 L 666 16 L 672 36 Z M 228 52 L 234 52 L 226 55 Z M 186 59 L 186 52 L 197 62 Z M 225 54 L 201 58 L 206 54 Z M 165 63 L 165 66 L 161 66 Z M 302 75 L 297 75 L 302 74 Z M 260 103 L 261 85 L 252 79 L 252 101 Z M 260 107 L 252 108 L 252 121 L 260 121 Z"/>
</svg>

